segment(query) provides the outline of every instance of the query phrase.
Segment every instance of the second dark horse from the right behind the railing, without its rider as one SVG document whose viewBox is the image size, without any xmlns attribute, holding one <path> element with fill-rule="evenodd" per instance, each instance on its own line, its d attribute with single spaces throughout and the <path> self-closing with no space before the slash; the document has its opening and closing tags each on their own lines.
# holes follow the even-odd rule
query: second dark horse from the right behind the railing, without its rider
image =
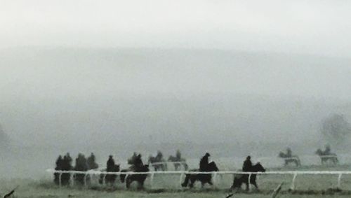
<svg viewBox="0 0 351 198">
<path fill-rule="evenodd" d="M 199 169 L 193 169 L 190 171 L 196 172 L 196 171 L 199 171 Z M 215 162 L 211 162 L 208 164 L 206 171 L 213 172 L 213 171 L 219 171 L 219 169 Z M 182 183 L 182 186 L 187 187 L 189 181 L 190 181 L 190 184 L 189 184 L 190 188 L 194 187 L 195 181 L 200 181 L 202 187 L 204 187 L 206 183 L 208 183 L 209 185 L 213 185 L 211 179 L 212 179 L 211 174 L 186 174 L 185 181 Z"/>
</svg>

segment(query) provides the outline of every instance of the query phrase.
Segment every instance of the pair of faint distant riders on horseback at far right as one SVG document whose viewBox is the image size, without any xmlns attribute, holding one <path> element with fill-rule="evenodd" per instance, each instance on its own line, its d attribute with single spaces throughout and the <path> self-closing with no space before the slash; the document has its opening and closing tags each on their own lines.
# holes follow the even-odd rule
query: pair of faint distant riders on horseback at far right
<svg viewBox="0 0 351 198">
<path fill-rule="evenodd" d="M 325 146 L 325 149 L 318 149 L 316 151 L 317 155 L 321 157 L 321 162 L 322 164 L 325 164 L 326 162 L 332 162 L 333 164 L 338 163 L 338 157 L 335 153 L 331 153 L 331 146 L 327 144 Z M 286 153 L 280 152 L 279 157 L 282 157 L 285 162 L 285 166 L 288 165 L 289 163 L 294 163 L 296 164 L 296 167 L 300 167 L 300 159 L 297 155 L 293 155 L 291 148 L 286 148 Z"/>
</svg>

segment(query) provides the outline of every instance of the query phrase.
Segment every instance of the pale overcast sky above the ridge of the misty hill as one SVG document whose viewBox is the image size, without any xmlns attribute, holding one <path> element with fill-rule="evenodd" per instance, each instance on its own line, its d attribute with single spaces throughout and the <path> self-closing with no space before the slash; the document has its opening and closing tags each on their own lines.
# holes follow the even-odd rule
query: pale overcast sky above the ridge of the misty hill
<svg viewBox="0 0 351 198">
<path fill-rule="evenodd" d="M 0 43 L 350 56 L 350 8 L 343 0 L 0 0 Z"/>
</svg>

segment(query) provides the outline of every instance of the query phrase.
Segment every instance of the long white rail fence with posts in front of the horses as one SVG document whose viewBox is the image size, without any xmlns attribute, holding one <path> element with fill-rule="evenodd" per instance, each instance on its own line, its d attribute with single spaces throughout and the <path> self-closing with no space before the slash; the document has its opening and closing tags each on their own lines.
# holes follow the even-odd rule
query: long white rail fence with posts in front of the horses
<svg viewBox="0 0 351 198">
<path fill-rule="evenodd" d="M 74 174 L 84 174 L 84 185 L 87 185 L 87 176 L 91 175 L 100 175 L 103 174 L 103 182 L 105 182 L 105 176 L 106 175 L 151 175 L 150 178 L 150 185 L 152 188 L 153 184 L 153 179 L 155 174 L 180 174 L 180 183 L 183 181 L 183 176 L 185 174 L 213 174 L 213 181 L 216 181 L 216 176 L 217 175 L 225 175 L 225 174 L 232 174 L 232 175 L 239 175 L 239 174 L 248 174 L 249 175 L 249 180 L 251 178 L 251 175 L 256 174 L 256 175 L 291 175 L 293 176 L 293 179 L 291 181 L 291 190 L 295 190 L 295 181 L 296 177 L 298 175 L 338 175 L 338 185 L 337 187 L 340 188 L 341 185 L 341 177 L 343 174 L 349 175 L 351 174 L 351 171 L 267 171 L 267 172 L 242 172 L 242 171 L 216 171 L 216 172 L 199 172 L 199 171 L 149 171 L 149 172 L 107 172 L 107 171 L 57 171 L 54 169 L 47 169 L 47 172 L 50 173 L 57 173 L 59 174 L 59 185 L 61 186 L 61 176 L 62 174 L 70 174 L 71 175 L 71 181 L 73 181 L 73 175 Z M 71 183 L 73 184 L 73 182 Z"/>
</svg>

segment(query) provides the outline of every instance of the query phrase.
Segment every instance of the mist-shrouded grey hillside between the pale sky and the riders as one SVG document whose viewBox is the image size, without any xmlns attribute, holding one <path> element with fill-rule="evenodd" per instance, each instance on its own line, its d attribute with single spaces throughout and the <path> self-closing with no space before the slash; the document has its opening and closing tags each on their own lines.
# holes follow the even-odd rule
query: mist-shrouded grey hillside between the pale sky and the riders
<svg viewBox="0 0 351 198">
<path fill-rule="evenodd" d="M 1 120 L 27 145 L 318 141 L 350 115 L 350 59 L 223 50 L 1 53 Z"/>
</svg>

